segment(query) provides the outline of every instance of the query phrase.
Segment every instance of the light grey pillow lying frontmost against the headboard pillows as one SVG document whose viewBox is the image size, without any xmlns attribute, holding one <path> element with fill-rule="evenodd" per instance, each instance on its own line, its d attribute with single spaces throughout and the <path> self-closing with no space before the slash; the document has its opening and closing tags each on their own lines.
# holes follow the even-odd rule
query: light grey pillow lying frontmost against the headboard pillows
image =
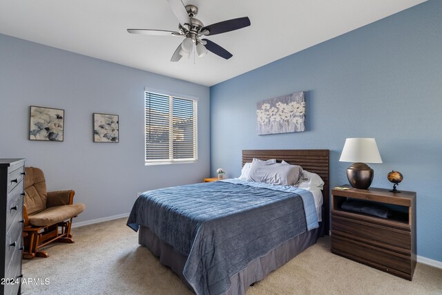
<svg viewBox="0 0 442 295">
<path fill-rule="evenodd" d="M 247 180 L 277 185 L 294 185 L 300 175 L 302 175 L 301 166 L 253 161 Z"/>
</svg>

